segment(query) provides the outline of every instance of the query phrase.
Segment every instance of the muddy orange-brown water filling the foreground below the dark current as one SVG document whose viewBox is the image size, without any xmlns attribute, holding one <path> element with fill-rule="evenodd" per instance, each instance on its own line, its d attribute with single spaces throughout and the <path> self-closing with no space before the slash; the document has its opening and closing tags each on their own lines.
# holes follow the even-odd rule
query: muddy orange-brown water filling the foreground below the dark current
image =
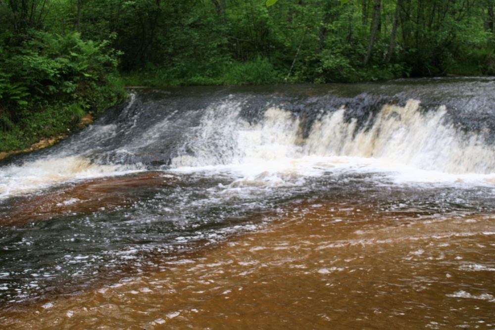
<svg viewBox="0 0 495 330">
<path fill-rule="evenodd" d="M 403 214 L 292 205 L 257 233 L 0 320 L 39 330 L 494 329 L 493 215 Z"/>
</svg>

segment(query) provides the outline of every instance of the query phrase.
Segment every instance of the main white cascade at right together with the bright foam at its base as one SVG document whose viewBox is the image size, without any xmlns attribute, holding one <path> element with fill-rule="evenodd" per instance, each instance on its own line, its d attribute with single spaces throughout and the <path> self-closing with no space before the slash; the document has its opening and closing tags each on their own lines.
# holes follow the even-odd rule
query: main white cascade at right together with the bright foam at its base
<svg viewBox="0 0 495 330">
<path fill-rule="evenodd" d="M 444 106 L 420 110 L 413 99 L 404 107 L 385 105 L 370 129 L 354 134 L 356 120 L 346 122 L 343 108 L 317 120 L 302 139 L 299 119 L 280 108 L 267 109 L 255 125 L 210 109 L 208 133 L 188 141 L 200 145 L 199 156 L 179 156 L 172 164 L 180 172 L 227 171 L 268 185 L 328 171 L 388 173 L 400 182 L 495 183 L 493 145 L 445 125 Z M 209 147 L 212 136 L 224 142 L 222 148 Z"/>
</svg>

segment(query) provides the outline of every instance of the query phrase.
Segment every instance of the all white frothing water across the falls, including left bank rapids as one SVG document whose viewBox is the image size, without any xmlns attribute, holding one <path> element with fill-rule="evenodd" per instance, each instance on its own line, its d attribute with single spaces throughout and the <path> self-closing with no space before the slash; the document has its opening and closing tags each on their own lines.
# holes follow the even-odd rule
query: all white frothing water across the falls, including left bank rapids
<svg viewBox="0 0 495 330">
<path fill-rule="evenodd" d="M 328 171 L 388 173 L 401 182 L 495 183 L 495 147 L 483 132 L 463 133 L 445 120 L 445 106 L 422 112 L 410 99 L 404 107 L 385 105 L 369 128 L 356 131 L 357 120 L 345 120 L 344 108 L 322 115 L 303 139 L 297 116 L 270 107 L 257 123 L 239 116 L 241 102 L 227 99 L 204 110 L 199 126 L 183 127 L 179 155 L 171 160 L 178 172 L 228 172 L 255 185 L 297 184 L 298 177 Z M 134 120 L 137 120 L 134 118 Z M 98 125 L 98 123 L 94 124 Z M 118 152 L 133 153 L 156 145 L 157 130 L 174 125 L 154 123 Z M 366 126 L 366 125 L 365 125 Z M 105 138 L 115 125 L 102 125 Z M 107 132 L 108 127 L 112 132 Z M 95 130 L 98 132 L 99 130 Z M 150 137 L 153 137 L 151 139 Z M 95 150 L 98 134 L 93 134 Z M 190 151 L 186 151 L 186 149 Z M 191 154 L 191 150 L 193 154 Z M 141 164 L 100 165 L 67 150 L 0 169 L 0 198 L 73 181 L 143 170 Z M 296 179 L 294 181 L 294 179 Z"/>
</svg>

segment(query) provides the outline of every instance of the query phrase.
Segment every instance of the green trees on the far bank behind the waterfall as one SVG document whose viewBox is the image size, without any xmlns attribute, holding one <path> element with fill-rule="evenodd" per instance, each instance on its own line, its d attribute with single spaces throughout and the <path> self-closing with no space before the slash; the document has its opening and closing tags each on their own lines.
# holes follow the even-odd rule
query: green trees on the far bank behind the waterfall
<svg viewBox="0 0 495 330">
<path fill-rule="evenodd" d="M 118 36 L 112 45 L 123 50 L 120 68 L 133 85 L 356 82 L 445 75 L 461 66 L 488 74 L 489 2 L 382 0 L 366 65 L 374 0 L 95 1 L 82 33 Z"/>
</svg>

